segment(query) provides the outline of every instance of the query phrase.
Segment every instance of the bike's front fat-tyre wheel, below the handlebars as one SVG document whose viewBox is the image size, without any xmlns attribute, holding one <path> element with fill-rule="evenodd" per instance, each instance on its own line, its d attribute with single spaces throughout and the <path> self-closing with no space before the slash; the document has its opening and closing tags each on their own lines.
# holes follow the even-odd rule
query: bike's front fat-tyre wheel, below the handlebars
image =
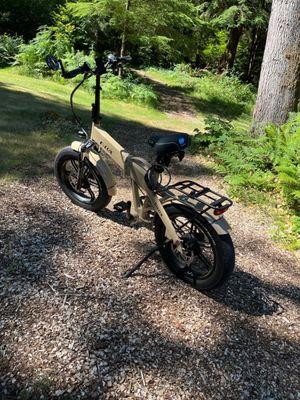
<svg viewBox="0 0 300 400">
<path fill-rule="evenodd" d="M 66 147 L 58 153 L 54 163 L 56 179 L 72 202 L 86 210 L 98 211 L 111 200 L 99 171 L 85 159 L 80 187 L 78 183 L 79 153 Z"/>
</svg>

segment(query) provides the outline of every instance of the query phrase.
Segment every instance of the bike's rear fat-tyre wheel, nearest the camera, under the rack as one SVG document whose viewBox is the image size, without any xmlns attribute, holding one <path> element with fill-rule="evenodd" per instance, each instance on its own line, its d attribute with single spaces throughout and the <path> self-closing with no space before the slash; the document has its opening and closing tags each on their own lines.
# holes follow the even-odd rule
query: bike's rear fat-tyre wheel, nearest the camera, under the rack
<svg viewBox="0 0 300 400">
<path fill-rule="evenodd" d="M 180 252 L 166 241 L 166 228 L 155 217 L 155 238 L 167 267 L 180 279 L 198 290 L 210 290 L 222 285 L 234 269 L 235 254 L 230 236 L 218 235 L 199 214 L 183 206 L 167 206 L 166 212 L 182 244 Z"/>
</svg>

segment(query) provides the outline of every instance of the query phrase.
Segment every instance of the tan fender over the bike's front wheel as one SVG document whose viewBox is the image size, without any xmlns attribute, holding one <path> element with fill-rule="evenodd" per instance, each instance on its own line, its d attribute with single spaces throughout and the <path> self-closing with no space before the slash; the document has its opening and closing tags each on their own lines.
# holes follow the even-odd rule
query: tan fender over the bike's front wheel
<svg viewBox="0 0 300 400">
<path fill-rule="evenodd" d="M 80 148 L 82 146 L 82 142 L 75 141 L 71 144 L 73 150 L 80 152 Z M 104 183 L 107 187 L 108 194 L 110 196 L 115 196 L 117 193 L 116 190 L 116 180 L 111 172 L 111 169 L 107 165 L 107 163 L 96 153 L 89 151 L 86 153 L 86 157 L 89 161 L 94 165 L 94 167 L 99 171 L 99 174 L 102 176 Z"/>
</svg>

